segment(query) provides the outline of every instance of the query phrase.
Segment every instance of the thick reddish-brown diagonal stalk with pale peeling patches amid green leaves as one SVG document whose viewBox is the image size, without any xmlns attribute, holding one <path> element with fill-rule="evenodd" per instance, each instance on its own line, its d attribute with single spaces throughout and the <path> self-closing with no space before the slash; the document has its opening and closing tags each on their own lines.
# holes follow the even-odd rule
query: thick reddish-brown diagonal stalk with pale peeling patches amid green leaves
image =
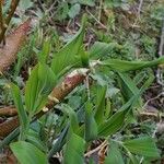
<svg viewBox="0 0 164 164">
<path fill-rule="evenodd" d="M 89 69 L 84 69 L 84 70 L 85 70 L 85 73 L 90 71 Z M 61 102 L 75 86 L 82 83 L 84 79 L 85 79 L 85 74 L 79 73 L 78 71 L 74 72 L 73 74 L 71 73 L 67 75 L 63 82 L 52 90 L 46 107 L 50 109 L 54 105 Z M 14 110 L 16 109 L 14 108 Z M 48 110 L 46 112 L 42 110 L 35 117 L 39 118 L 47 112 Z M 19 124 L 17 117 L 14 117 L 13 119 L 1 124 L 0 125 L 0 138 L 7 137 L 11 131 L 13 131 L 16 127 L 19 127 L 19 125 L 20 124 Z"/>
</svg>

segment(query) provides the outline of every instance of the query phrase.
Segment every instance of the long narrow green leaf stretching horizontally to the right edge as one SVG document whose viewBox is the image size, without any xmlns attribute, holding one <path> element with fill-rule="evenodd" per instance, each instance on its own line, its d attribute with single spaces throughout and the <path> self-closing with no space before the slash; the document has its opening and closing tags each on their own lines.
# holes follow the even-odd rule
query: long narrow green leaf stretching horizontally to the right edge
<svg viewBox="0 0 164 164">
<path fill-rule="evenodd" d="M 164 57 L 160 57 L 152 61 L 126 61 L 119 59 L 108 59 L 102 61 L 103 66 L 107 66 L 112 70 L 119 71 L 119 72 L 134 71 L 134 70 L 153 67 L 162 63 L 164 63 Z"/>
</svg>

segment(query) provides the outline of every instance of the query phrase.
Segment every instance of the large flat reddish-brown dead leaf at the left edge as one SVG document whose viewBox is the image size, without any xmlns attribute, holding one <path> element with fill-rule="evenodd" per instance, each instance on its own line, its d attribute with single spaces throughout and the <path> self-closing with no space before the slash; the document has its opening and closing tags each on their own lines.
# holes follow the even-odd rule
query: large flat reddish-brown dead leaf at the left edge
<svg viewBox="0 0 164 164">
<path fill-rule="evenodd" d="M 5 45 L 0 48 L 0 72 L 4 72 L 14 62 L 31 27 L 31 20 L 21 24 L 5 37 Z"/>
</svg>

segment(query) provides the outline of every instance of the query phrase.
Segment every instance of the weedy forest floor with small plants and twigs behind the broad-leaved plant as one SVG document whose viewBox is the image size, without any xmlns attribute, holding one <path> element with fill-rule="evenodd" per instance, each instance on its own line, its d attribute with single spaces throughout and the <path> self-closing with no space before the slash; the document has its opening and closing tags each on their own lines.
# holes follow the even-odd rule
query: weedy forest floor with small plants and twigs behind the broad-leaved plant
<svg viewBox="0 0 164 164">
<path fill-rule="evenodd" d="M 106 60 L 110 58 L 128 61 L 151 61 L 164 55 L 163 0 L 25 0 L 17 7 L 9 32 L 24 20 L 27 20 L 27 17 L 32 17 L 33 25 L 27 38 L 28 44 L 21 49 L 14 65 L 0 78 L 1 107 L 13 105 L 12 94 L 7 86 L 7 82 L 14 81 L 23 89 L 31 69 L 37 63 L 37 54 L 42 50 L 44 40 L 48 40 L 51 45 L 48 60 L 48 63 L 50 63 L 52 54 L 58 52 L 81 27 L 81 20 L 84 13 L 87 15 L 84 48 L 90 51 L 95 43 L 102 45 L 99 47 L 99 49 L 102 48 L 99 50 L 102 51 L 102 56 L 97 59 Z M 115 110 L 126 102 L 126 96 L 124 95 L 126 93 L 122 93 L 124 91 L 121 91 L 113 72 L 104 68 L 90 75 L 91 82 L 89 80 L 89 84 L 94 85 L 96 81 L 98 85 L 107 84 L 109 86 L 106 95 L 109 97 L 107 99 L 110 99 L 110 108 Z M 152 138 L 155 138 L 157 149 L 161 152 L 161 159 L 152 163 L 164 163 L 164 69 L 154 67 L 142 71 L 137 70 L 130 72 L 129 77 L 133 79 L 137 89 L 142 87 L 144 79 L 153 77 L 153 81 L 145 89 L 141 97 L 142 101 L 139 106 L 141 112 L 138 120 L 127 126 L 128 128 L 126 130 L 120 130 L 119 134 L 116 134 L 116 138 L 126 139 L 127 136 L 132 136 L 132 138 L 143 134 L 152 136 Z M 84 85 L 80 85 L 66 97 L 63 103 L 67 103 L 77 112 L 77 109 L 84 106 L 86 94 L 87 96 L 90 94 L 96 96 L 97 94 L 95 92 L 96 86 L 90 86 L 86 90 L 91 91 L 85 91 Z M 84 95 L 84 93 L 86 94 Z M 94 96 L 90 98 L 94 99 Z M 48 115 L 46 118 L 48 119 L 46 126 L 56 126 L 57 132 L 66 126 L 63 121 L 66 118 L 63 116 L 61 117 L 60 108 L 60 106 L 57 106 L 57 112 L 50 113 L 51 116 Z M 61 117 L 62 122 L 57 119 L 59 117 Z M 3 122 L 7 119 L 2 117 L 0 121 Z M 51 122 L 52 120 L 56 122 Z M 54 125 L 58 122 L 60 124 Z M 47 144 L 49 143 L 50 141 Z M 104 139 L 93 141 L 87 152 L 85 152 L 85 160 L 87 161 L 90 159 L 87 153 L 91 153 L 94 161 L 98 161 L 101 164 L 97 159 L 99 155 L 97 152 L 101 149 L 97 149 L 98 151 L 95 152 L 92 152 L 92 150 L 96 150 L 103 143 Z M 106 147 L 103 147 L 104 149 Z M 104 155 L 106 155 L 106 152 Z M 51 163 L 57 163 L 57 161 L 59 163 L 61 157 L 62 151 L 51 157 L 50 161 Z M 139 157 L 137 156 L 137 159 Z M 142 163 L 142 159 L 139 161 Z"/>
</svg>

